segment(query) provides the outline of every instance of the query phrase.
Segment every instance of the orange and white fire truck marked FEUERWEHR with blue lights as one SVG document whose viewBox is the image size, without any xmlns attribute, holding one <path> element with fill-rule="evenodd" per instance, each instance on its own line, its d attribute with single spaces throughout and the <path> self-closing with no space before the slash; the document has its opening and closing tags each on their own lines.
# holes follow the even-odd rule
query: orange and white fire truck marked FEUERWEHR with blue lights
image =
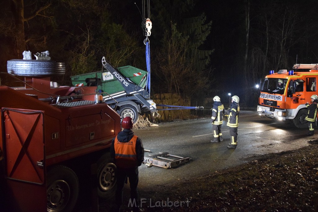
<svg viewBox="0 0 318 212">
<path fill-rule="evenodd" d="M 259 115 L 275 118 L 280 121 L 293 120 L 298 128 L 307 128 L 305 120 L 308 109 L 306 102 L 318 94 L 318 64 L 295 64 L 292 71 L 279 70 L 262 79 L 260 86 Z M 298 72 L 297 69 L 306 69 Z"/>
</svg>

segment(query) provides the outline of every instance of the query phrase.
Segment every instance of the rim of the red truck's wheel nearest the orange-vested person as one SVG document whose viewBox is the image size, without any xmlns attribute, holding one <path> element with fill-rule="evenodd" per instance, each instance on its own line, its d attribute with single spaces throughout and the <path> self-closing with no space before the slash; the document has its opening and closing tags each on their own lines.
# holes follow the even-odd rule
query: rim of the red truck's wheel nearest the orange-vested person
<svg viewBox="0 0 318 212">
<path fill-rule="evenodd" d="M 99 175 L 99 186 L 101 190 L 111 190 L 115 184 L 115 171 L 116 165 L 114 163 L 107 163 L 100 171 Z"/>
</svg>

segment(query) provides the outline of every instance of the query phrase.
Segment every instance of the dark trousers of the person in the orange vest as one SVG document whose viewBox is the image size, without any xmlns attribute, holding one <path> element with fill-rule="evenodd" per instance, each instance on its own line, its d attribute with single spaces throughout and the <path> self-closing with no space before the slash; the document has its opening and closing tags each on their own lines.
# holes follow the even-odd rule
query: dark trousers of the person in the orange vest
<svg viewBox="0 0 318 212">
<path fill-rule="evenodd" d="M 115 193 L 115 202 L 117 207 L 120 207 L 122 205 L 122 194 L 123 194 L 123 188 L 126 181 L 126 178 L 129 179 L 129 185 L 130 185 L 130 198 L 131 202 L 133 203 L 133 206 L 138 207 L 138 167 L 135 168 L 119 168 L 116 169 L 117 174 L 117 189 Z M 135 203 L 135 204 L 134 204 Z"/>
</svg>

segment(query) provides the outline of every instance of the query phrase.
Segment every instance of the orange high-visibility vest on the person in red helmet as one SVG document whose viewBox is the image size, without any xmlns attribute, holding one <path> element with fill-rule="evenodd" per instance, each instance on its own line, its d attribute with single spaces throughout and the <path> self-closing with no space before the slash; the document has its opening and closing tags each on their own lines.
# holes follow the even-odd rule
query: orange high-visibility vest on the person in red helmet
<svg viewBox="0 0 318 212">
<path fill-rule="evenodd" d="M 114 141 L 116 166 L 120 168 L 134 168 L 137 166 L 136 141 L 134 135 L 128 142 L 120 142 L 117 136 Z"/>
</svg>

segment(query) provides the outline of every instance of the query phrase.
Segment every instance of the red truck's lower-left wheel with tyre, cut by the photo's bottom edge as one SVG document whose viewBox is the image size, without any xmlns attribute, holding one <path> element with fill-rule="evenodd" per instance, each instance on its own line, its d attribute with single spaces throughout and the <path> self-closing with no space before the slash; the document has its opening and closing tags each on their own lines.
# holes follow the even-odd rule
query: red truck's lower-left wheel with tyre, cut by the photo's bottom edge
<svg viewBox="0 0 318 212">
<path fill-rule="evenodd" d="M 78 195 L 79 181 L 72 169 L 54 166 L 47 171 L 47 211 L 72 211 Z"/>
</svg>

